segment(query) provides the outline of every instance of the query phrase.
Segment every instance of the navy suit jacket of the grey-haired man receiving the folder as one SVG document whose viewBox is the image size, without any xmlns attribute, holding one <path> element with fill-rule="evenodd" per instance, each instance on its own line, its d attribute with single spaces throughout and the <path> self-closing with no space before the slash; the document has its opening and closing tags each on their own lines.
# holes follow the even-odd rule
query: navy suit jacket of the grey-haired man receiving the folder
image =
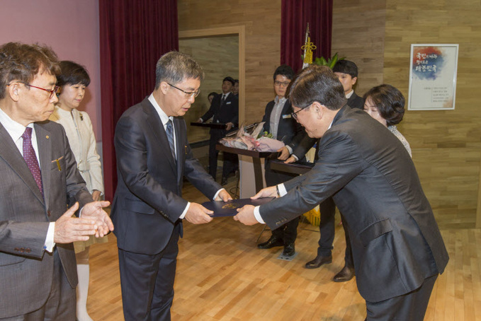
<svg viewBox="0 0 481 321">
<path fill-rule="evenodd" d="M 181 197 L 184 176 L 209 199 L 222 188 L 193 158 L 185 120 L 174 117 L 174 129 L 177 161 L 147 98 L 125 111 L 117 123 L 118 185 L 111 218 L 122 250 L 154 255 L 166 247 L 188 203 Z"/>
</svg>

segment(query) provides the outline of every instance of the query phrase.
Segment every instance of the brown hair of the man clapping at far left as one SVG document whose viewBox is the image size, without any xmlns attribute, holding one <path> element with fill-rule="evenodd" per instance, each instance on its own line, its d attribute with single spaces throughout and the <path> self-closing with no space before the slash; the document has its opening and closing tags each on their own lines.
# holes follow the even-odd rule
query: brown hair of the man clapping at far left
<svg viewBox="0 0 481 321">
<path fill-rule="evenodd" d="M 0 99 L 11 81 L 30 83 L 39 73 L 60 74 L 57 54 L 46 45 L 8 42 L 0 47 Z"/>
</svg>

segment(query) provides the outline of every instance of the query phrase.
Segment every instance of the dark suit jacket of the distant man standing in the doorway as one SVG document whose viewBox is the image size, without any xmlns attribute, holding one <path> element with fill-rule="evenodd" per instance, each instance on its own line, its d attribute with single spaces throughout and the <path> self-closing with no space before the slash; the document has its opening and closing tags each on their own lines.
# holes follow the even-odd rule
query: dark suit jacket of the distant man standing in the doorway
<svg viewBox="0 0 481 321">
<path fill-rule="evenodd" d="M 239 98 L 233 93 L 229 93 L 222 106 L 220 105 L 221 100 L 222 93 L 214 97 L 209 110 L 200 118 L 203 122 L 206 122 L 211 117 L 214 117 L 212 122 L 221 124 L 232 122 L 234 127 L 239 127 Z M 222 136 L 225 136 L 227 133 L 224 129 L 210 129 L 210 134 L 213 134 L 213 132 L 222 132 Z"/>
</svg>

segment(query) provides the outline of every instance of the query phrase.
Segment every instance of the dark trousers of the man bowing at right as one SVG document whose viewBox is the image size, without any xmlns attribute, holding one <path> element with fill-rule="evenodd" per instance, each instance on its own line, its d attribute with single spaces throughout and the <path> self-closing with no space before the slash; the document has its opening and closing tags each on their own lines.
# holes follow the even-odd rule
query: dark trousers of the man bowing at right
<svg viewBox="0 0 481 321">
<path fill-rule="evenodd" d="M 438 274 L 424 279 L 419 288 L 380 302 L 366 301 L 368 321 L 422 321 Z"/>
</svg>

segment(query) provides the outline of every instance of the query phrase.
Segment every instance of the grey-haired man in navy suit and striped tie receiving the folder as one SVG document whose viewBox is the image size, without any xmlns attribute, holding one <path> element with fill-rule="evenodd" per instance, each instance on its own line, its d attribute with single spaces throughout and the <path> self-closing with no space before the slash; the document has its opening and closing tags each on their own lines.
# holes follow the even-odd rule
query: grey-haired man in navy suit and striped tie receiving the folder
<svg viewBox="0 0 481 321">
<path fill-rule="evenodd" d="M 170 320 L 182 220 L 212 220 L 212 211 L 181 197 L 183 177 L 209 199 L 232 199 L 193 158 L 187 141 L 182 116 L 203 77 L 186 54 L 164 54 L 154 92 L 125 111 L 115 128 L 118 185 L 112 220 L 125 320 Z"/>
</svg>

